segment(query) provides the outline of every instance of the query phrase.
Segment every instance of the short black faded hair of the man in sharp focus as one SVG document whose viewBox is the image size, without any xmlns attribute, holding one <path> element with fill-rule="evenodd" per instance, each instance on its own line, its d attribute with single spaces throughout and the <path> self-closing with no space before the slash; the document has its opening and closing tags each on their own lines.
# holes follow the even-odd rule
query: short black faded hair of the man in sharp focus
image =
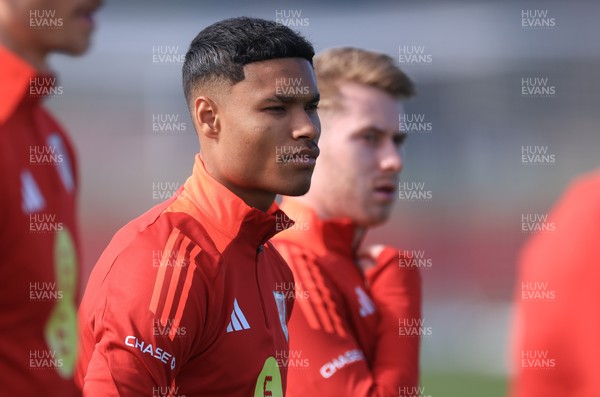
<svg viewBox="0 0 600 397">
<path fill-rule="evenodd" d="M 312 65 L 312 44 L 292 29 L 259 18 L 231 18 L 203 29 L 183 63 L 183 92 L 188 104 L 194 87 L 234 85 L 244 80 L 244 65 L 278 58 L 304 58 Z"/>
</svg>

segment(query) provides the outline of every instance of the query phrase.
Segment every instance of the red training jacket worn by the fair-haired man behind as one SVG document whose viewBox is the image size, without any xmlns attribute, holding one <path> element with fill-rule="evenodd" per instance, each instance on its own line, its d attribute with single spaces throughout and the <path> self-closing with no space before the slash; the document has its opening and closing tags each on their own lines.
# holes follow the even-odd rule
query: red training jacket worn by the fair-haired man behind
<svg viewBox="0 0 600 397">
<path fill-rule="evenodd" d="M 275 245 L 294 272 L 289 396 L 409 396 L 419 382 L 421 281 L 386 248 L 363 276 L 350 220 L 322 220 L 298 200 Z M 406 262 L 404 262 L 406 263 Z"/>
</svg>

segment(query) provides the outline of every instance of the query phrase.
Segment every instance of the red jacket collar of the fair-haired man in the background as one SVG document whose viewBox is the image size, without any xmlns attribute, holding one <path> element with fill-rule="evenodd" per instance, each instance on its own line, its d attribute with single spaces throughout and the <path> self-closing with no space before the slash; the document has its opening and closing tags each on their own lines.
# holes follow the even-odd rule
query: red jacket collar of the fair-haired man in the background
<svg viewBox="0 0 600 397">
<path fill-rule="evenodd" d="M 355 259 L 360 241 L 355 241 L 357 226 L 350 219 L 321 219 L 312 208 L 289 197 L 284 197 L 281 208 L 295 224 L 277 239 L 300 241 L 302 246 L 311 247 L 318 256 L 333 251 L 350 260 Z"/>
</svg>

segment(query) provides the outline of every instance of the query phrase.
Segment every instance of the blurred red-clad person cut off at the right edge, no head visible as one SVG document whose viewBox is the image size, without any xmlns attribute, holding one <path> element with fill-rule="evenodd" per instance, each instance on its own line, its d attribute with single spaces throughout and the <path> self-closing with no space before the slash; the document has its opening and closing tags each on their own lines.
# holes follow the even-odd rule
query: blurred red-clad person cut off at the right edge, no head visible
<svg viewBox="0 0 600 397">
<path fill-rule="evenodd" d="M 600 171 L 567 190 L 523 248 L 513 397 L 600 396 Z"/>
</svg>

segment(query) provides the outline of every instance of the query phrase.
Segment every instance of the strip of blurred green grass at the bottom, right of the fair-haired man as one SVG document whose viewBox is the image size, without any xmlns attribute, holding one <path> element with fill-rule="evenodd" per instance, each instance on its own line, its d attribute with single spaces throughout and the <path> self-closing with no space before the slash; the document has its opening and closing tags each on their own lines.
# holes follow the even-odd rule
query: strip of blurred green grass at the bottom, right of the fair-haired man
<svg viewBox="0 0 600 397">
<path fill-rule="evenodd" d="M 505 397 L 506 378 L 466 373 L 421 373 L 424 395 L 431 397 Z"/>
</svg>

